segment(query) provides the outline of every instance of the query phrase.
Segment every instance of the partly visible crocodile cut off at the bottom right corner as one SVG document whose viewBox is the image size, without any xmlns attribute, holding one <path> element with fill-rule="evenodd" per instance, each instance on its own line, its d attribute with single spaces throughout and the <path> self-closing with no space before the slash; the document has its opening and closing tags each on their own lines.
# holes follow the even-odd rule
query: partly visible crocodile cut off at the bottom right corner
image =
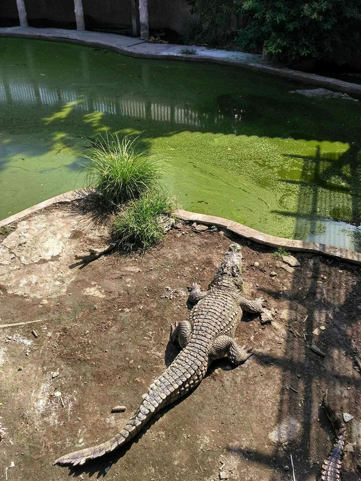
<svg viewBox="0 0 361 481">
<path fill-rule="evenodd" d="M 353 416 L 346 418 L 345 414 L 342 415 L 335 412 L 328 401 L 328 391 L 326 391 L 324 396 L 323 405 L 328 420 L 335 431 L 336 439 L 327 459 L 324 460 L 324 464 L 322 465 L 321 481 L 339 481 L 341 459 L 344 453 L 346 423 L 351 421 Z"/>
</svg>

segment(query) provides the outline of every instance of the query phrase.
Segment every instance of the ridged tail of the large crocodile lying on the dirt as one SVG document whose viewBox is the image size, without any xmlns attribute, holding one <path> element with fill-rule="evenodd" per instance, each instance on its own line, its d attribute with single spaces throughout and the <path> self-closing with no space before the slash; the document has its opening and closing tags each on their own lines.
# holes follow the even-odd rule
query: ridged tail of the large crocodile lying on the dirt
<svg viewBox="0 0 361 481">
<path fill-rule="evenodd" d="M 206 360 L 201 361 L 199 357 L 192 356 L 190 350 L 183 349 L 166 371 L 153 381 L 149 391 L 143 396 L 142 404 L 119 434 L 92 448 L 81 449 L 59 457 L 54 464 L 72 464 L 73 466 L 84 464 L 89 459 L 101 457 L 124 446 L 144 428 L 153 414 L 181 398 L 199 384 L 205 373 L 206 364 Z"/>
</svg>

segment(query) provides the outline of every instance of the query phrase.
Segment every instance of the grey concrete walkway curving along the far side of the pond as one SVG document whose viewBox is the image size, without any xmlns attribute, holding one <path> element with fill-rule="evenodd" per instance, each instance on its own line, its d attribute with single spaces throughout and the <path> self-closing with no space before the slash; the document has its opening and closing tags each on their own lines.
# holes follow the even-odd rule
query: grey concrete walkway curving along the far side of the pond
<svg viewBox="0 0 361 481">
<path fill-rule="evenodd" d="M 192 47 L 196 54 L 181 53 L 184 45 L 152 44 L 138 38 L 114 35 L 112 33 L 99 33 L 89 31 L 63 30 L 62 28 L 32 28 L 32 27 L 7 27 L 0 28 L 0 37 L 26 37 L 56 42 L 70 42 L 75 44 L 103 47 L 105 49 L 124 53 L 137 58 L 164 58 L 168 60 L 187 60 L 188 62 L 214 62 L 233 65 L 260 71 L 265 74 L 277 75 L 309 85 L 318 85 L 337 92 L 361 96 L 361 85 L 337 80 L 302 71 L 269 65 L 262 60 L 262 56 L 253 53 L 237 51 L 205 49 Z"/>
</svg>

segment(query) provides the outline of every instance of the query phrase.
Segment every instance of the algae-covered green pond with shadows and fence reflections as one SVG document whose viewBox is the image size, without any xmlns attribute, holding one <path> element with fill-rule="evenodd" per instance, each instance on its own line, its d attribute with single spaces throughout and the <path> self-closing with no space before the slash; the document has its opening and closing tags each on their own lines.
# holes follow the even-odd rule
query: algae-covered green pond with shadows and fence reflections
<svg viewBox="0 0 361 481">
<path fill-rule="evenodd" d="M 140 135 L 185 210 L 361 248 L 360 102 L 237 67 L 0 38 L 0 218 L 82 187 L 92 140 Z"/>
</svg>

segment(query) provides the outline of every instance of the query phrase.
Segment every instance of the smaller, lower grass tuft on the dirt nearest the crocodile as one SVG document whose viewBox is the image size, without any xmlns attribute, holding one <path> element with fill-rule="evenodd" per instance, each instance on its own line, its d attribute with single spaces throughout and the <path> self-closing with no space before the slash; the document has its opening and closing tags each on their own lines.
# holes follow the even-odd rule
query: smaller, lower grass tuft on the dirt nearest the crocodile
<svg viewBox="0 0 361 481">
<path fill-rule="evenodd" d="M 162 242 L 164 231 L 160 216 L 170 215 L 173 210 L 174 201 L 165 194 L 144 194 L 121 207 L 113 223 L 112 237 L 126 251 L 145 251 Z"/>
</svg>

